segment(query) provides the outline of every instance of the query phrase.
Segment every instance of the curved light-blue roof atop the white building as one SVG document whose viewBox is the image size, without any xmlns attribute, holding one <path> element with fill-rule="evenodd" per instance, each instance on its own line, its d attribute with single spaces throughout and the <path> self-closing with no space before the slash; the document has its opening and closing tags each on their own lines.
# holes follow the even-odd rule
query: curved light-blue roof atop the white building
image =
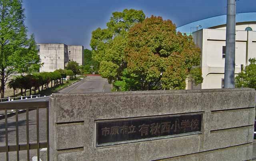
<svg viewBox="0 0 256 161">
<path fill-rule="evenodd" d="M 177 27 L 177 32 L 194 32 L 196 31 L 196 26 L 202 26 L 198 28 L 198 30 L 202 28 L 210 28 L 214 26 L 224 25 L 226 24 L 226 14 L 221 16 L 215 16 L 211 18 L 206 18 L 203 20 L 198 20 L 195 22 L 191 22 L 189 24 L 185 24 Z M 256 22 L 256 12 L 247 12 L 247 13 L 239 13 L 236 14 L 236 22 Z"/>
</svg>

